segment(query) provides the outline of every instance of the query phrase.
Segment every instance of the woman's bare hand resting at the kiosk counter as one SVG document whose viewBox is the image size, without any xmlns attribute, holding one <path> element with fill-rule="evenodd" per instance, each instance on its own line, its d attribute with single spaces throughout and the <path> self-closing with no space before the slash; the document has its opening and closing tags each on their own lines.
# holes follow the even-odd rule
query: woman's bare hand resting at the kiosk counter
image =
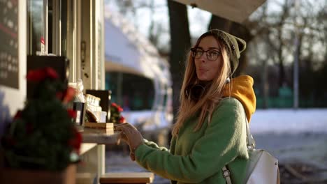
<svg viewBox="0 0 327 184">
<path fill-rule="evenodd" d="M 136 148 L 143 144 L 143 137 L 140 132 L 129 123 L 122 123 L 121 125 L 116 126 L 116 130 L 120 130 L 120 137 L 123 141 L 126 141 L 129 144 L 131 160 L 135 160 L 134 152 Z"/>
</svg>

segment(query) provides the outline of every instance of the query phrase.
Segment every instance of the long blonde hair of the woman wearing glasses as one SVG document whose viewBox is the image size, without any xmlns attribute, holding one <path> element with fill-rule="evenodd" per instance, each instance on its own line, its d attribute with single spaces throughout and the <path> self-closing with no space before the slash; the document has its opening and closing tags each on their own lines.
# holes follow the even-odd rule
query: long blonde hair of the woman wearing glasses
<svg viewBox="0 0 327 184">
<path fill-rule="evenodd" d="M 184 91 L 187 89 L 187 86 L 189 86 L 190 84 L 198 83 L 194 58 L 191 52 L 187 54 L 187 66 L 184 73 L 184 79 L 180 93 L 180 108 L 177 112 L 177 121 L 173 125 L 172 130 L 173 137 L 178 135 L 180 128 L 182 127 L 184 122 L 187 121 L 187 118 L 198 112 L 201 113 L 200 116 L 198 116 L 198 124 L 194 128 L 194 132 L 201 128 L 201 126 L 205 122 L 206 116 L 208 116 L 208 123 L 210 123 L 212 112 L 214 112 L 215 107 L 217 107 L 222 98 L 222 90 L 224 89 L 224 85 L 226 84 L 226 79 L 231 76 L 231 63 L 229 61 L 229 56 L 225 47 L 219 42 L 219 39 L 215 35 L 210 34 L 207 36 L 213 36 L 217 40 L 217 43 L 221 49 L 221 56 L 223 61 L 221 62 L 221 66 L 219 66 L 221 70 L 219 72 L 219 75 L 212 79 L 212 82 L 208 84 L 209 86 L 206 88 L 203 96 L 201 96 L 201 98 L 195 102 L 194 100 L 191 100 L 191 98 L 187 97 L 184 93 Z M 201 36 L 200 38 L 198 38 L 194 47 L 198 47 L 201 40 L 205 37 L 206 36 Z M 228 85 L 231 85 L 231 83 L 228 83 Z"/>
</svg>

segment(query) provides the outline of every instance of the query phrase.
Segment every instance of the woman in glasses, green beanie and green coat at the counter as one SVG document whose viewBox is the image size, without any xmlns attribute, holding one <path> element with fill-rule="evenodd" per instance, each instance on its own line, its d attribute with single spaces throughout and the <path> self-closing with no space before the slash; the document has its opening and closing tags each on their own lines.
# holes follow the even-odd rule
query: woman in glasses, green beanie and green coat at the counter
<svg viewBox="0 0 327 184">
<path fill-rule="evenodd" d="M 170 151 L 124 123 L 117 130 L 131 158 L 172 183 L 226 183 L 225 166 L 232 183 L 242 183 L 248 159 L 245 118 L 254 113 L 256 98 L 252 77 L 231 77 L 245 47 L 244 40 L 217 29 L 198 38 L 187 59 Z"/>
</svg>

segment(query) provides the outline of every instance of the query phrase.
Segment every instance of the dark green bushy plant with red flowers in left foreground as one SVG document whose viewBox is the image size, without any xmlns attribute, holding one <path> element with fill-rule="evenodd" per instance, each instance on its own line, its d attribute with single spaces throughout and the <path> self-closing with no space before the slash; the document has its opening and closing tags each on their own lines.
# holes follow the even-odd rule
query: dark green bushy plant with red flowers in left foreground
<svg viewBox="0 0 327 184">
<path fill-rule="evenodd" d="M 16 112 L 0 139 L 1 152 L 6 155 L 3 161 L 6 167 L 15 169 L 62 171 L 72 162 L 78 162 L 82 142 L 82 135 L 73 123 L 77 112 L 67 109 L 68 105 L 64 104 L 74 98 L 75 89 L 69 88 L 49 67 L 30 70 L 26 77 L 28 82 L 34 82 L 38 87 L 33 100 L 27 100 L 24 109 Z M 43 103 L 46 107 L 40 109 L 39 105 Z M 58 131 L 52 131 L 53 125 Z M 60 135 L 57 132 L 61 132 Z M 22 150 L 27 149 L 33 150 L 24 152 L 24 158 L 31 158 L 29 164 L 26 164 L 27 159 L 17 159 Z M 53 154 L 49 155 L 48 151 Z M 43 162 L 34 162 L 35 157 Z"/>
</svg>

